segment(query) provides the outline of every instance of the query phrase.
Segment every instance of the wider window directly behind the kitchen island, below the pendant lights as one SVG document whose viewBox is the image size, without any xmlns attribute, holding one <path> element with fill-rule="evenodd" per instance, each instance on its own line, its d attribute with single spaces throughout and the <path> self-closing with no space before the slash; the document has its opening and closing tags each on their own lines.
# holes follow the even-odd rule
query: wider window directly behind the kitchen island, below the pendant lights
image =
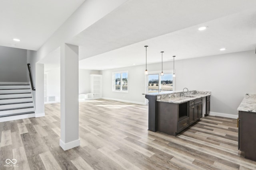
<svg viewBox="0 0 256 170">
<path fill-rule="evenodd" d="M 171 72 L 165 72 L 164 76 L 160 73 L 148 74 L 147 93 L 173 91 L 173 78 Z"/>
</svg>

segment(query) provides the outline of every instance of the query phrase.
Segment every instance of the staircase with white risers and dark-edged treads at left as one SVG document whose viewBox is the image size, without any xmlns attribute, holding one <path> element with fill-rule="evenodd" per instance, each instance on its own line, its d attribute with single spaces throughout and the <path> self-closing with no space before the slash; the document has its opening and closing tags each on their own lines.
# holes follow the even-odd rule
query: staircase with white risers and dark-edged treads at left
<svg viewBox="0 0 256 170">
<path fill-rule="evenodd" d="M 0 82 L 0 119 L 31 113 L 35 114 L 35 109 L 30 84 Z"/>
</svg>

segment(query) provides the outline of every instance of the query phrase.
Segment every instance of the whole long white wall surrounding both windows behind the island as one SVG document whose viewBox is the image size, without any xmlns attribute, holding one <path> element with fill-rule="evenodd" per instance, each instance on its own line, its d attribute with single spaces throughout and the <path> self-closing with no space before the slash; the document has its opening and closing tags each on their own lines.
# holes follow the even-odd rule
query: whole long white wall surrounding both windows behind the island
<svg viewBox="0 0 256 170">
<path fill-rule="evenodd" d="M 178 59 L 178 56 L 176 57 Z M 211 112 L 237 116 L 237 107 L 244 94 L 256 94 L 256 54 L 245 51 L 209 57 L 175 61 L 175 90 L 209 90 Z M 163 63 L 164 70 L 172 70 L 173 63 Z M 112 92 L 112 72 L 129 71 L 129 92 Z M 145 66 L 131 66 L 102 71 L 102 97 L 116 100 L 144 102 Z M 148 64 L 148 71 L 161 70 L 161 63 Z M 225 115 L 222 115 L 225 116 Z"/>
</svg>

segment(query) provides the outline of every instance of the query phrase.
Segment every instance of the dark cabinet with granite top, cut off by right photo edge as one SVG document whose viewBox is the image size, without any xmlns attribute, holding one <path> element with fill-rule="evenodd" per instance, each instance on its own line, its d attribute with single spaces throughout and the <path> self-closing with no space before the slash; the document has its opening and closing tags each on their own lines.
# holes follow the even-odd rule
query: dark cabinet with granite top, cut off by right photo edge
<svg viewBox="0 0 256 170">
<path fill-rule="evenodd" d="M 256 94 L 246 94 L 238 110 L 238 149 L 256 161 Z"/>
</svg>

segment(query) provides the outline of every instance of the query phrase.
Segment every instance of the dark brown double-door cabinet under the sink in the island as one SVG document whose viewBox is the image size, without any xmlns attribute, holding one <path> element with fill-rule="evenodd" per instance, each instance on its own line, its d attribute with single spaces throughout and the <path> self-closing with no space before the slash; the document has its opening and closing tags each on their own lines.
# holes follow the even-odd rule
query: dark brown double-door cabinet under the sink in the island
<svg viewBox="0 0 256 170">
<path fill-rule="evenodd" d="M 189 102 L 189 124 L 198 121 L 202 117 L 202 98 Z"/>
</svg>

